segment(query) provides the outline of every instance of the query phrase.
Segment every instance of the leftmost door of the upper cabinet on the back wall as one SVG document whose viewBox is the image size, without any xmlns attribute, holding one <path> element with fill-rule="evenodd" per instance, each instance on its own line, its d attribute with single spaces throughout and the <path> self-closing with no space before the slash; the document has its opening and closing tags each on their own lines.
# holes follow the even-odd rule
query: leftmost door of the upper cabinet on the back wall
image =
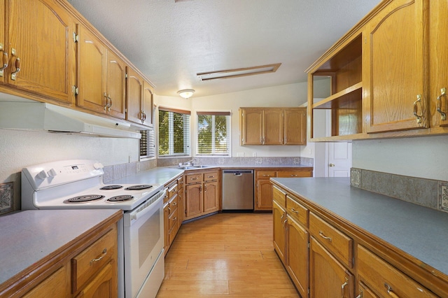
<svg viewBox="0 0 448 298">
<path fill-rule="evenodd" d="M 241 110 L 242 145 L 262 145 L 262 110 Z"/>
</svg>

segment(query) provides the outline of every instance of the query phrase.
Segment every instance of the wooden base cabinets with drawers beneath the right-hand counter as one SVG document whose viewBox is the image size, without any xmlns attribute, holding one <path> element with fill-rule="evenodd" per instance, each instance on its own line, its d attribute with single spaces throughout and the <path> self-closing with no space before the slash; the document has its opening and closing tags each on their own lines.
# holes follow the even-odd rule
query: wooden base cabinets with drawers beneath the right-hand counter
<svg viewBox="0 0 448 298">
<path fill-rule="evenodd" d="M 446 278 L 421 261 L 276 181 L 273 188 L 274 249 L 302 297 L 448 295 Z"/>
</svg>

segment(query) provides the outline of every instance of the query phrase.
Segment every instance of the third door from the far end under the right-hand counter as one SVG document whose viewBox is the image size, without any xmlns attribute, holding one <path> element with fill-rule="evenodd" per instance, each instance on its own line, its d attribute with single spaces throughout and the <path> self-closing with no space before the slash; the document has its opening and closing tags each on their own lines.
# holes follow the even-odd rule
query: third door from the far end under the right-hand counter
<svg viewBox="0 0 448 298">
<path fill-rule="evenodd" d="M 311 236 L 309 297 L 353 297 L 353 275 Z"/>
</svg>

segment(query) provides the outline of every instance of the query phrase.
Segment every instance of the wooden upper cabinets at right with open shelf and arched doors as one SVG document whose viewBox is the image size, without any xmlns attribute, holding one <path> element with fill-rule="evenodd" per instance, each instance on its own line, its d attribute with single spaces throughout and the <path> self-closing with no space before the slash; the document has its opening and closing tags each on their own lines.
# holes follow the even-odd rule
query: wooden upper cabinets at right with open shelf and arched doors
<svg viewBox="0 0 448 298">
<path fill-rule="evenodd" d="M 308 70 L 313 141 L 447 134 L 447 20 L 444 1 L 385 0 Z M 330 97 L 314 102 L 314 79 Z M 330 136 L 315 135 L 317 110 L 331 113 Z M 321 115 L 321 114 L 320 114 Z"/>
</svg>

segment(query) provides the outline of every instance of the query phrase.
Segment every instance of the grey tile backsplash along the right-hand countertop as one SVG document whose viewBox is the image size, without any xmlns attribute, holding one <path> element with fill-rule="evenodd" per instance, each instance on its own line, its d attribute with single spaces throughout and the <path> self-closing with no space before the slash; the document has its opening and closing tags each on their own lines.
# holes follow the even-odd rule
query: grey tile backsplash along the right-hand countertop
<svg viewBox="0 0 448 298">
<path fill-rule="evenodd" d="M 370 192 L 448 212 L 448 182 L 351 168 L 350 183 Z"/>
</svg>

